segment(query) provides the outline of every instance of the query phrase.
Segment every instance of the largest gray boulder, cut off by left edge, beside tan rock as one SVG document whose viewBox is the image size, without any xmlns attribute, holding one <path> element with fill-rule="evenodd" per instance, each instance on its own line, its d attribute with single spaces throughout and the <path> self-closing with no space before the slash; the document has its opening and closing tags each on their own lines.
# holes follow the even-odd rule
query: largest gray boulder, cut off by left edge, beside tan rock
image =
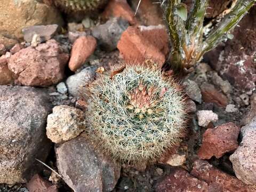
<svg viewBox="0 0 256 192">
<path fill-rule="evenodd" d="M 42 90 L 26 86 L 0 86 L 0 183 L 27 182 L 42 169 L 50 150 L 46 118 L 51 106 Z"/>
</svg>

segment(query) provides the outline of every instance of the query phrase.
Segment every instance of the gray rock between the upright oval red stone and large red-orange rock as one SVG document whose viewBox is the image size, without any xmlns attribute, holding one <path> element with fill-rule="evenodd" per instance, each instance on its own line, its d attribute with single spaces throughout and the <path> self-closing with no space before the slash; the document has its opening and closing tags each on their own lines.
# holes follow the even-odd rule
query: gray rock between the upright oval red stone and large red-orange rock
<svg viewBox="0 0 256 192">
<path fill-rule="evenodd" d="M 112 18 L 105 24 L 92 29 L 92 35 L 98 39 L 98 44 L 106 51 L 116 49 L 123 31 L 129 27 L 129 22 L 122 18 Z"/>
</svg>

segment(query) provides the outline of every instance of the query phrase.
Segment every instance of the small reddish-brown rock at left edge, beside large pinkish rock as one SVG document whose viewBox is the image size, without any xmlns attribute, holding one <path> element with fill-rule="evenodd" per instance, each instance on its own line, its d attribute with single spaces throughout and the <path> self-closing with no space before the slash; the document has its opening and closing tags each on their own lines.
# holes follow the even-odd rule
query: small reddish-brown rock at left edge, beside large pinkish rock
<svg viewBox="0 0 256 192">
<path fill-rule="evenodd" d="M 12 72 L 7 65 L 7 59 L 5 55 L 0 57 L 0 85 L 6 85 L 13 82 Z"/>
</svg>

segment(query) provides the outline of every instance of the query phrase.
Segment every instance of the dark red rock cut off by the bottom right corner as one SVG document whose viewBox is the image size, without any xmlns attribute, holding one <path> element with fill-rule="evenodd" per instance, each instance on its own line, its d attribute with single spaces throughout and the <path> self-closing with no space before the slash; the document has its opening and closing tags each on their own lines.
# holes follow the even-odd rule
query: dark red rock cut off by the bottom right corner
<svg viewBox="0 0 256 192">
<path fill-rule="evenodd" d="M 237 178 L 224 173 L 210 163 L 197 160 L 190 174 L 194 175 L 197 179 L 204 180 L 209 184 L 209 191 L 211 192 L 255 192 L 256 189 L 245 185 Z"/>
</svg>

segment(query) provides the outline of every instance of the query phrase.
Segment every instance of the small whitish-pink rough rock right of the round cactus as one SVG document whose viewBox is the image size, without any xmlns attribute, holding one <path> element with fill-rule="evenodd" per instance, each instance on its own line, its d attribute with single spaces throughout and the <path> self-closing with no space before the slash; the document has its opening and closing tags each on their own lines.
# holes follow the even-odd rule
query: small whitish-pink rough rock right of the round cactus
<svg viewBox="0 0 256 192">
<path fill-rule="evenodd" d="M 199 110 L 197 111 L 197 119 L 199 126 L 206 127 L 210 122 L 217 122 L 218 115 L 212 110 Z"/>
</svg>

